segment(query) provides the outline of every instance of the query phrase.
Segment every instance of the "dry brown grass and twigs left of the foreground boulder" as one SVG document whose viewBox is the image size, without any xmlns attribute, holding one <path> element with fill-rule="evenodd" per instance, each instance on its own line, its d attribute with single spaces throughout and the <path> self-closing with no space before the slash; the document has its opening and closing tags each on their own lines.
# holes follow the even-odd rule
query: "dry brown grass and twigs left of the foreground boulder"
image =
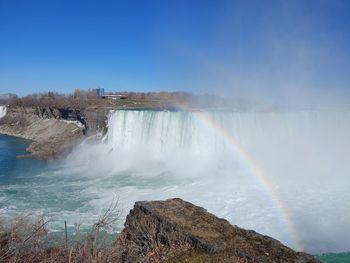
<svg viewBox="0 0 350 263">
<path fill-rule="evenodd" d="M 47 225 L 49 220 L 30 215 L 0 221 L 0 262 L 45 263 L 97 263 L 118 262 L 120 253 L 116 246 L 108 244 L 101 231 L 110 231 L 119 220 L 117 200 L 99 217 L 87 233 L 76 225 L 74 240 L 48 247 Z"/>
</svg>

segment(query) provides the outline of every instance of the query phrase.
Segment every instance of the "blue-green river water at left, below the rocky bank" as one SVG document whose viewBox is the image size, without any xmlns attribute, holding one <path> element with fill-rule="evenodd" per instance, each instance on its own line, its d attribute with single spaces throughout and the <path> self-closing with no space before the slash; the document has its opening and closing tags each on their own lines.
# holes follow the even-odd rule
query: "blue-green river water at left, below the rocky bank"
<svg viewBox="0 0 350 263">
<path fill-rule="evenodd" d="M 29 144 L 28 140 L 0 135 L 0 215 L 5 218 L 20 214 L 33 215 L 34 218 L 45 216 L 51 230 L 48 245 L 64 240 L 64 221 L 67 221 L 68 241 L 75 242 L 74 224 L 81 222 L 81 231 L 85 232 L 99 215 L 90 217 L 90 220 L 79 218 L 79 214 L 92 209 L 88 202 L 94 196 L 79 196 L 83 190 L 79 186 L 81 178 L 72 176 L 74 173 L 61 174 L 60 171 L 64 170 L 61 163 L 17 159 L 17 155 L 26 153 Z M 101 237 L 108 242 L 115 239 L 114 234 L 104 231 Z"/>
</svg>

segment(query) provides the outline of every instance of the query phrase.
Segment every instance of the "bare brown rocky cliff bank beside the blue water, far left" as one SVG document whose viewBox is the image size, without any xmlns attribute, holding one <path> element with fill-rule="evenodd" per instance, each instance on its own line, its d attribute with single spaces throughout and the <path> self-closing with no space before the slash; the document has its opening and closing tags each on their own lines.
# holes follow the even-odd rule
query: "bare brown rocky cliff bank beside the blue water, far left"
<svg viewBox="0 0 350 263">
<path fill-rule="evenodd" d="M 27 151 L 31 157 L 42 160 L 54 159 L 70 150 L 84 132 L 83 118 L 73 111 L 13 107 L 0 120 L 0 133 L 32 140 Z"/>
</svg>

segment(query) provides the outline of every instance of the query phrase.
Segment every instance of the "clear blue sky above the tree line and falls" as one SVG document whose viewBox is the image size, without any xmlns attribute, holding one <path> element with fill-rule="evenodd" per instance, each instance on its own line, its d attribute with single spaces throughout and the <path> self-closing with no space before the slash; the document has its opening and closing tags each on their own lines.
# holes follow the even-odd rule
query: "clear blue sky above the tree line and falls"
<svg viewBox="0 0 350 263">
<path fill-rule="evenodd" d="M 0 0 L 0 93 L 345 98 L 349 14 L 346 0 Z"/>
</svg>

